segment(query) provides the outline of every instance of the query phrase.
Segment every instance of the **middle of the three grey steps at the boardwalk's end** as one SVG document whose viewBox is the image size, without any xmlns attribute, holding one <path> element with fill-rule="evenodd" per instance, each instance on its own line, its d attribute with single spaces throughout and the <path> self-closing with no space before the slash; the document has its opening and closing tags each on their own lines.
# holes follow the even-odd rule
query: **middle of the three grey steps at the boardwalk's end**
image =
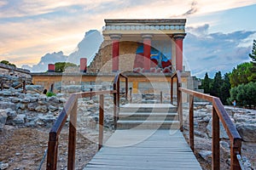
<svg viewBox="0 0 256 170">
<path fill-rule="evenodd" d="M 177 121 L 177 113 L 120 112 L 119 120 Z"/>
</svg>

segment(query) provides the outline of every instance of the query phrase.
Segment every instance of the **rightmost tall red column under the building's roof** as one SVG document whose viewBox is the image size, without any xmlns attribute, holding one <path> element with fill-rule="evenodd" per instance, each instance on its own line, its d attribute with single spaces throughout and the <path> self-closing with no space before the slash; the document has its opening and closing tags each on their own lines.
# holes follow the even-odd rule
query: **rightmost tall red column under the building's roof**
<svg viewBox="0 0 256 170">
<path fill-rule="evenodd" d="M 183 71 L 183 39 L 185 35 L 174 35 L 176 44 L 176 71 Z"/>
</svg>

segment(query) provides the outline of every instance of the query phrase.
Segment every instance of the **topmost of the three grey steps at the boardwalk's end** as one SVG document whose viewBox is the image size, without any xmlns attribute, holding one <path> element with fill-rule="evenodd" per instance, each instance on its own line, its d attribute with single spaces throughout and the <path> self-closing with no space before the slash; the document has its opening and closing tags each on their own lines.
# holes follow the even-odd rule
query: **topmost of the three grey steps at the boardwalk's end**
<svg viewBox="0 0 256 170">
<path fill-rule="evenodd" d="M 120 106 L 120 112 L 173 113 L 177 107 L 171 104 L 126 104 Z"/>
</svg>

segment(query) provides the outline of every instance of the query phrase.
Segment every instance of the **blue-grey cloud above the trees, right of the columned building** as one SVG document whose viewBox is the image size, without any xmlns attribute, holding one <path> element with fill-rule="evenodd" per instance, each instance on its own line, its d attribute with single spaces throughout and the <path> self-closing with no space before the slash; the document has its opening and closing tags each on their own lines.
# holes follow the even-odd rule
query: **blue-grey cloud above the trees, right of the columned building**
<svg viewBox="0 0 256 170">
<path fill-rule="evenodd" d="M 196 77 L 204 77 L 208 72 L 228 72 L 236 65 L 250 60 L 251 46 L 240 43 L 256 31 L 234 31 L 231 33 L 207 33 L 209 26 L 189 27 L 184 39 L 184 56 Z M 253 39 L 251 40 L 253 42 Z"/>
</svg>

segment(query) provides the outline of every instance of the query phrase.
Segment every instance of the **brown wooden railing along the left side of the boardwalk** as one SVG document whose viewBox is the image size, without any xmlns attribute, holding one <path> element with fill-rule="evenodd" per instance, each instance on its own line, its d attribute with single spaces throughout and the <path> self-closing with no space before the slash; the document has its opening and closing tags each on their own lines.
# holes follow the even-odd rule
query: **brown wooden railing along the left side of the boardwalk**
<svg viewBox="0 0 256 170">
<path fill-rule="evenodd" d="M 113 81 L 113 90 L 104 91 L 91 91 L 84 93 L 71 94 L 64 105 L 63 110 L 55 121 L 54 126 L 49 132 L 48 142 L 48 153 L 47 153 L 47 164 L 46 169 L 55 170 L 57 168 L 58 161 L 58 142 L 62 127 L 67 121 L 67 117 L 70 116 L 69 120 L 69 132 L 68 132 L 68 156 L 67 156 L 67 169 L 75 169 L 75 149 L 76 149 L 76 133 L 77 133 L 77 110 L 78 110 L 78 99 L 87 98 L 90 96 L 100 96 L 99 105 L 99 142 L 98 149 L 102 147 L 103 141 L 103 119 L 104 119 L 104 95 L 113 94 L 113 118 L 118 118 L 119 114 L 119 79 L 125 77 L 124 75 L 117 73 Z M 125 98 L 127 99 L 128 94 L 128 78 L 125 77 Z M 116 123 L 116 122 L 114 122 Z M 116 124 L 114 125 L 116 127 Z"/>
</svg>

